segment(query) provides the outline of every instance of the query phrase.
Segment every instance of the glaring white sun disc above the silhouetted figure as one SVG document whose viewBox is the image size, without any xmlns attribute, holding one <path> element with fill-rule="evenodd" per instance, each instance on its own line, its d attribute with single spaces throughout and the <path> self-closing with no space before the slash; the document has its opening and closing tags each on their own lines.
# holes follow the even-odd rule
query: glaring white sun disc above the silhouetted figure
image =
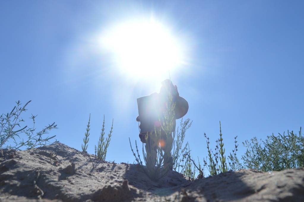
<svg viewBox="0 0 304 202">
<path fill-rule="evenodd" d="M 183 60 L 177 38 L 154 19 L 117 24 L 102 34 L 100 42 L 112 53 L 119 71 L 133 78 L 168 76 Z"/>
</svg>

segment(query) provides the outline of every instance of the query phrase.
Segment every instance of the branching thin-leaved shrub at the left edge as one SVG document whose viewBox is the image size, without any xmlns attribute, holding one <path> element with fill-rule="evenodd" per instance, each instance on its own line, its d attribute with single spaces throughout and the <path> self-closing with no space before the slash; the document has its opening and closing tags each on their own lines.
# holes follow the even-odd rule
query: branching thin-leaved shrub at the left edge
<svg viewBox="0 0 304 202">
<path fill-rule="evenodd" d="M 21 123 L 25 122 L 21 117 L 22 112 L 26 111 L 26 106 L 31 101 L 28 101 L 23 105 L 20 101 L 16 102 L 16 106 L 12 109 L 10 113 L 2 114 L 0 116 L 0 148 L 9 148 L 21 150 L 22 148 L 31 149 L 39 145 L 46 145 L 50 143 L 57 142 L 55 139 L 54 142 L 50 142 L 50 139 L 53 139 L 56 135 L 51 137 L 43 137 L 43 135 L 48 134 L 50 130 L 57 128 L 55 122 L 51 125 L 45 126 L 39 132 L 34 134 L 35 128 L 35 118 L 37 117 L 32 114 L 31 119 L 33 121 L 33 127 L 30 128 L 27 125 L 22 127 Z M 21 137 L 21 134 L 26 134 L 26 139 Z M 22 139 L 22 141 L 21 141 Z M 8 142 L 12 141 L 14 145 Z"/>
</svg>

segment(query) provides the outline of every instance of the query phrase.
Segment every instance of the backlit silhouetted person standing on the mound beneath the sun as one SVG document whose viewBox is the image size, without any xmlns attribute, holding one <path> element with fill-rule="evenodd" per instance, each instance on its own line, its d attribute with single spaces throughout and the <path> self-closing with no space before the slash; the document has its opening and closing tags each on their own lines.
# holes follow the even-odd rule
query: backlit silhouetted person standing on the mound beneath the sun
<svg viewBox="0 0 304 202">
<path fill-rule="evenodd" d="M 161 84 L 162 87 L 159 93 L 137 98 L 139 115 L 137 116 L 136 121 L 140 122 L 140 141 L 146 143 L 147 159 L 149 159 L 147 161 L 155 166 L 157 161 L 157 147 L 160 145 L 164 150 L 164 167 L 169 166 L 172 170 L 172 132 L 175 131 L 176 119 L 183 117 L 187 113 L 189 105 L 184 98 L 179 96 L 177 86 L 174 86 L 169 79 L 164 80 Z M 164 111 L 168 110 L 166 104 L 169 100 L 170 91 L 172 101 L 175 103 L 175 118 L 172 123 L 173 127 L 171 134 L 168 135 L 161 126 L 162 120 L 164 120 Z M 161 128 L 161 140 L 159 142 L 154 142 L 150 137 L 155 134 L 154 128 Z M 152 148 L 150 148 L 150 146 L 152 146 Z"/>
</svg>

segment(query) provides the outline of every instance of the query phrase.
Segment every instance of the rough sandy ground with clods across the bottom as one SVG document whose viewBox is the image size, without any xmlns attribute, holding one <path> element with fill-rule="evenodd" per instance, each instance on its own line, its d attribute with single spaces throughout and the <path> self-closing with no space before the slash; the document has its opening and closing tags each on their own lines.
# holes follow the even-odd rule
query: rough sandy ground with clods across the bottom
<svg viewBox="0 0 304 202">
<path fill-rule="evenodd" d="M 0 201 L 304 202 L 304 169 L 242 169 L 192 182 L 171 171 L 153 182 L 138 165 L 97 161 L 56 143 L 0 150 Z"/>
</svg>

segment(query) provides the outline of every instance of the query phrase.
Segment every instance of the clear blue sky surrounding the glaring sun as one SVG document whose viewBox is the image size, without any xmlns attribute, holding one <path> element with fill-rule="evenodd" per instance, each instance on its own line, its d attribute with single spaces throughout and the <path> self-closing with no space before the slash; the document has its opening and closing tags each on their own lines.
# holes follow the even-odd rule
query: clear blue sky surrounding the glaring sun
<svg viewBox="0 0 304 202">
<path fill-rule="evenodd" d="M 56 122 L 57 139 L 81 150 L 89 113 L 88 152 L 102 117 L 114 132 L 106 160 L 132 162 L 128 138 L 139 141 L 136 98 L 159 91 L 153 81 L 126 78 L 92 36 L 127 18 L 151 14 L 187 44 L 187 63 L 171 72 L 193 120 L 186 141 L 207 155 L 222 123 L 226 151 L 233 137 L 303 126 L 304 13 L 302 1 L 2 1 L 0 112 L 21 100 L 38 114 L 37 129 Z M 161 78 L 167 78 L 162 75 Z M 30 120 L 26 119 L 28 124 Z M 178 120 L 179 122 L 179 120 Z"/>
</svg>

